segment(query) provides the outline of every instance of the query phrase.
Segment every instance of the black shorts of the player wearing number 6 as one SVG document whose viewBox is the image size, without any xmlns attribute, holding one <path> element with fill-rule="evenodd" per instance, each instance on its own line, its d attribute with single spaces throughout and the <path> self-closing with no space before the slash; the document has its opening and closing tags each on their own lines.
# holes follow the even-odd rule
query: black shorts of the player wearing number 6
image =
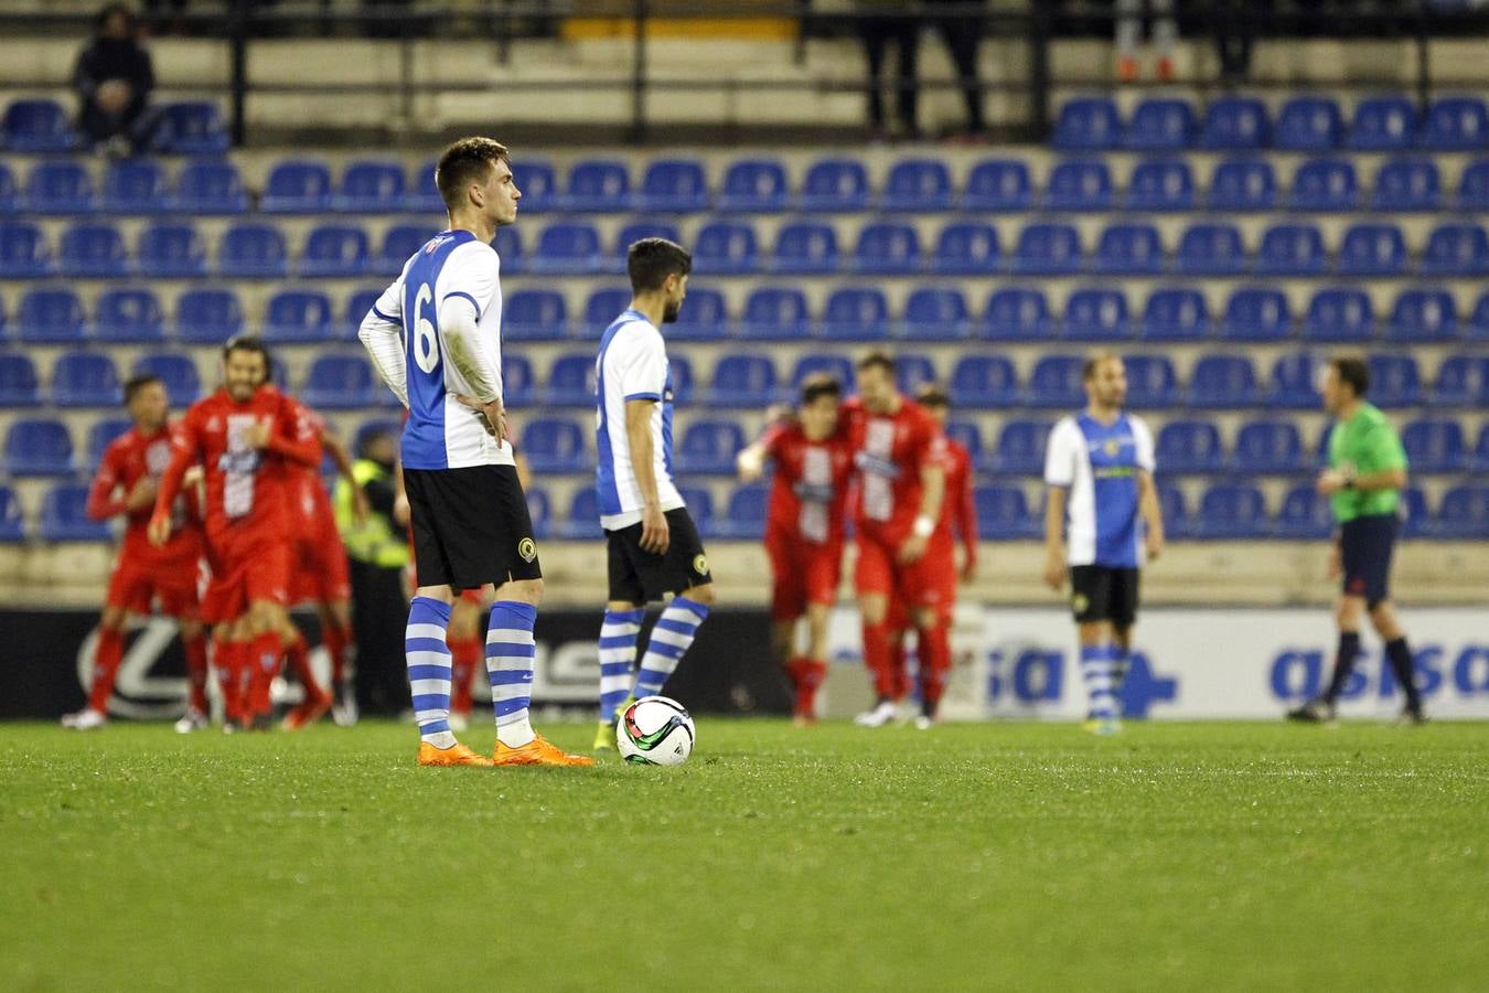
<svg viewBox="0 0 1489 993">
<path fill-rule="evenodd" d="M 404 469 L 418 587 L 475 590 L 542 579 L 514 466 Z"/>
</svg>

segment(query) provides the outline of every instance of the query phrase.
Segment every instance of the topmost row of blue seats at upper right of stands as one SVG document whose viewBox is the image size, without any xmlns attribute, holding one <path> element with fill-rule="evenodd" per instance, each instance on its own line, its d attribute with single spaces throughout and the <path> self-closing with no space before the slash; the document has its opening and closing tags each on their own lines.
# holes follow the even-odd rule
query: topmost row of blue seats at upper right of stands
<svg viewBox="0 0 1489 993">
<path fill-rule="evenodd" d="M 1123 121 L 1111 97 L 1084 97 L 1060 107 L 1053 144 L 1066 150 L 1145 152 L 1462 152 L 1489 147 L 1489 109 L 1479 97 L 1438 97 L 1419 113 L 1407 97 L 1389 94 L 1356 103 L 1346 125 L 1343 109 L 1330 97 L 1292 97 L 1275 118 L 1255 97 L 1212 100 L 1203 113 L 1187 100 L 1163 97 L 1139 101 Z"/>
</svg>

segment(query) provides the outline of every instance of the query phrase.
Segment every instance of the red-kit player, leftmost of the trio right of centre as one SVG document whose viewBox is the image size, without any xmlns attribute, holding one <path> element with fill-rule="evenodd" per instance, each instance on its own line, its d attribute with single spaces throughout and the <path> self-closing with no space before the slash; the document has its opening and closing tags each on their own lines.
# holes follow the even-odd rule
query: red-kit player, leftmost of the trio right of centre
<svg viewBox="0 0 1489 993">
<path fill-rule="evenodd" d="M 798 725 L 816 719 L 816 691 L 828 670 L 828 613 L 843 570 L 843 530 L 853 451 L 840 430 L 843 387 L 829 377 L 801 386 L 795 418 L 782 418 L 739 454 L 743 482 L 776 463 L 765 517 L 765 552 L 774 576 L 771 648 L 797 691 Z M 795 630 L 807 616 L 807 652 L 795 654 Z"/>
</svg>

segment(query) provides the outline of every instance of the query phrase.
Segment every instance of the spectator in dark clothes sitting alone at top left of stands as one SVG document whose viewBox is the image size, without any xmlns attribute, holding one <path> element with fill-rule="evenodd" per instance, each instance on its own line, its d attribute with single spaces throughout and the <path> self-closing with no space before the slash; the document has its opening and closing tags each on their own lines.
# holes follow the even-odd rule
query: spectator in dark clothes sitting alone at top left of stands
<svg viewBox="0 0 1489 993">
<path fill-rule="evenodd" d="M 147 137 L 144 106 L 155 88 L 150 54 L 140 43 L 134 12 L 122 3 L 106 6 L 94 24 L 94 37 L 73 68 L 77 130 L 110 153 L 138 150 Z"/>
</svg>

